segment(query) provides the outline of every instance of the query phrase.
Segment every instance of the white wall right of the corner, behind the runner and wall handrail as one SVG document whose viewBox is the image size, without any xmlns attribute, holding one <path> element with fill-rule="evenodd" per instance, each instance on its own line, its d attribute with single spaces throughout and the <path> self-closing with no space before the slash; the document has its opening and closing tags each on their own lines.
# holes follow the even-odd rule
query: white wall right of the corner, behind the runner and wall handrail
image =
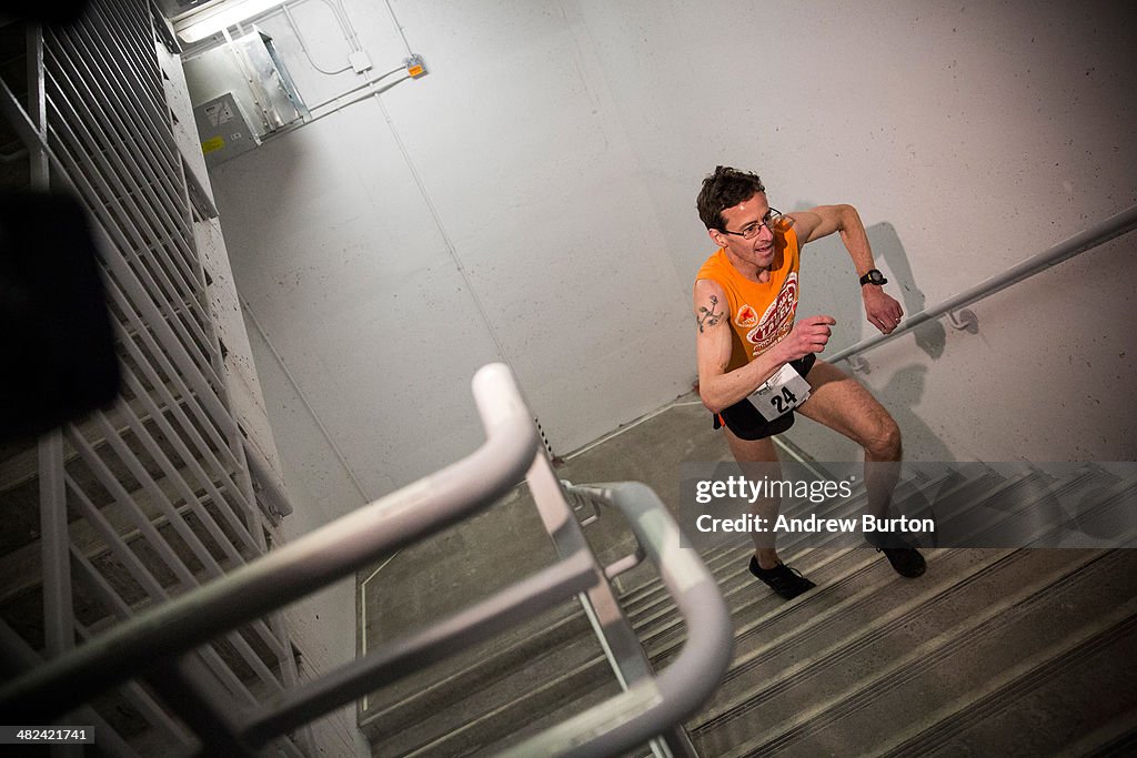
<svg viewBox="0 0 1137 758">
<path fill-rule="evenodd" d="M 1123 3 L 584 8 L 680 272 L 705 255 L 682 211 L 716 163 L 758 170 L 782 210 L 854 203 L 910 314 L 1137 202 Z M 1137 458 L 1135 253 L 1129 234 L 974 306 L 976 336 L 930 325 L 872 351 L 862 378 L 907 455 Z M 872 333 L 852 273 L 836 240 L 806 248 L 799 313 L 837 316 L 835 349 Z M 816 458 L 858 455 L 810 427 L 789 436 Z"/>
</svg>

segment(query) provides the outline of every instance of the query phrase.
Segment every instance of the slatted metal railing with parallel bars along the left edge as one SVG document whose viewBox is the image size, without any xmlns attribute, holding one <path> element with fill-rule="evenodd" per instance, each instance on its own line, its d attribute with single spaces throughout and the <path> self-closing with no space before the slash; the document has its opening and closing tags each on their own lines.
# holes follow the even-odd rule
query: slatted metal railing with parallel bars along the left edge
<svg viewBox="0 0 1137 758">
<path fill-rule="evenodd" d="M 33 27 L 23 49 L 3 50 L 27 61 L 26 95 L 0 82 L 0 109 L 27 149 L 28 189 L 70 191 L 90 213 L 123 373 L 110 408 L 0 465 L 6 510 L 30 525 L 0 556 L 0 640 L 17 669 L 98 648 L 108 630 L 267 551 L 268 506 L 229 406 L 151 13 L 146 0 L 92 0 L 74 25 Z M 277 611 L 186 666 L 244 707 L 298 680 Z M 75 718 L 111 755 L 198 749 L 169 697 L 128 682 Z M 313 752 L 305 731 L 274 745 Z"/>
</svg>

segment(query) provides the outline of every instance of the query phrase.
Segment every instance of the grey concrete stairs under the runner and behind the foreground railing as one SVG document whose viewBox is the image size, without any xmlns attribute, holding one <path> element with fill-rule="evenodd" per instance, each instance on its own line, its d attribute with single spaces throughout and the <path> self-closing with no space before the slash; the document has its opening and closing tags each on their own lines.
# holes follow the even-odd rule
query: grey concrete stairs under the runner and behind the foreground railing
<svg viewBox="0 0 1137 758">
<path fill-rule="evenodd" d="M 1118 483 L 1093 467 L 1065 478 L 1030 470 L 1004 480 L 990 469 L 976 470 L 970 478 L 945 472 L 913 482 L 908 497 L 933 500 L 952 517 L 969 507 L 997 503 L 993 519 L 968 522 L 981 536 L 993 520 L 1030 513 L 1043 498 L 1055 494 L 1094 493 L 1101 506 L 1079 518 L 1085 525 L 1102 527 L 1131 501 L 1137 486 Z M 1045 543 L 1044 530 L 1036 531 L 1024 539 Z M 1003 630 L 1030 636 L 1036 627 L 1051 623 L 1045 609 L 1054 598 L 1063 608 L 1059 626 L 1076 640 L 1067 652 L 1086 667 L 1109 668 L 1110 659 L 1131 651 L 1128 617 L 1113 618 L 1104 628 L 1094 620 L 1111 607 L 1110 599 L 1128 601 L 1129 590 L 1113 583 L 1105 600 L 1081 599 L 1081 588 L 1130 570 L 1129 563 L 1113 553 L 932 549 L 924 551 L 928 573 L 907 580 L 879 552 L 833 547 L 837 540 L 837 535 L 830 542 L 791 535 L 785 545 L 779 542 L 787 563 L 819 585 L 790 602 L 750 576 L 750 545 L 745 538 L 704 553 L 736 620 L 736 656 L 721 690 L 689 724 L 700 755 L 828 755 L 862 744 L 863 750 L 854 751 L 911 755 L 913 745 L 921 751 L 928 745 L 940 749 L 936 739 L 940 733 L 963 735 L 960 739 L 974 734 L 974 744 L 981 747 L 982 735 L 997 731 L 999 718 L 1024 718 L 1007 708 L 998 711 L 1003 716 L 987 717 L 989 703 L 995 702 L 989 699 L 990 688 L 970 686 L 985 681 L 984 670 L 1007 667 L 1014 676 L 1001 680 L 1003 689 L 996 689 L 1021 692 L 1039 703 L 1063 686 L 1073 686 L 1068 681 L 1076 676 L 1072 669 L 1047 652 L 1065 636 L 1057 634 L 1049 647 L 1015 647 L 1015 639 Z M 621 597 L 621 603 L 653 666 L 656 670 L 666 667 L 682 649 L 686 630 L 661 583 L 633 588 Z M 971 666 L 972 655 L 981 658 L 986 669 Z M 450 670 L 420 693 L 388 694 L 382 708 L 370 708 L 373 716 L 383 714 L 370 722 L 372 728 L 382 724 L 388 731 L 382 741 L 373 742 L 373 755 L 493 755 L 619 691 L 590 627 L 572 614 L 528 630 L 523 639 L 483 650 Z M 875 701 L 886 694 L 869 688 L 870 682 L 904 689 L 913 701 L 920 699 L 912 688 L 923 683 L 939 699 L 930 706 L 926 699 L 922 709 L 908 708 L 895 719 L 878 709 Z M 422 688 L 418 681 L 412 684 Z M 1130 735 L 1117 719 L 1137 706 L 1121 702 L 1114 710 L 1087 724 L 1099 733 L 1096 741 L 1086 743 L 1088 748 L 1112 750 L 1129 744 Z M 879 714 L 883 723 L 881 736 L 871 743 L 854 739 L 861 720 L 870 718 L 865 714 Z M 918 717 L 921 714 L 923 720 Z M 815 728 L 818 718 L 844 730 L 845 741 L 837 741 L 828 726 Z M 907 728 L 901 728 L 904 725 Z"/>
</svg>

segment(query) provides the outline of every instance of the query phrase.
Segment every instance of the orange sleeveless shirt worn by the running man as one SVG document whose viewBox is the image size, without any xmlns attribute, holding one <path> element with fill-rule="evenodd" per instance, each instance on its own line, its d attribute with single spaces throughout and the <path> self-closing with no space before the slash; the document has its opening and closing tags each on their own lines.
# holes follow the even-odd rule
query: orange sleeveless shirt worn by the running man
<svg viewBox="0 0 1137 758">
<path fill-rule="evenodd" d="M 727 311 L 732 330 L 728 372 L 754 360 L 794 328 L 799 264 L 800 247 L 790 227 L 774 233 L 774 260 L 765 284 L 739 274 L 723 248 L 699 268 L 696 280 L 717 282 L 727 293 L 727 302 L 717 307 Z"/>
</svg>

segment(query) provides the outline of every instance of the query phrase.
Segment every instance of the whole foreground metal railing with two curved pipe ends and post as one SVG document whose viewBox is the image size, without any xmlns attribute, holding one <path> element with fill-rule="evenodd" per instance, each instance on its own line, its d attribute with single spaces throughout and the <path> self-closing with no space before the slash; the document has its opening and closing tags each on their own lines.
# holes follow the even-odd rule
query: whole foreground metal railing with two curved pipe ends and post
<svg viewBox="0 0 1137 758">
<path fill-rule="evenodd" d="M 177 705 L 201 741 L 200 751 L 252 756 L 288 730 L 374 690 L 383 677 L 409 674 L 424 661 L 488 639 L 503 625 L 531 618 L 556 602 L 578 597 L 589 605 L 614 605 L 608 602 L 611 593 L 605 594 L 605 569 L 579 533 L 508 368 L 500 364 L 483 367 L 474 376 L 473 390 L 487 441 L 472 455 L 30 669 L 0 688 L 0 713 L 13 723 L 51 723 L 105 689 L 142 677 Z M 251 709 L 234 708 L 227 693 L 188 655 L 222 632 L 472 515 L 526 474 L 531 486 L 536 483 L 546 495 L 556 493 L 538 498 L 534 490 L 542 518 L 557 532 L 550 532 L 561 553 L 553 566 Z M 607 622 L 620 619 L 632 634 L 631 647 L 645 667 L 636 669 L 636 661 L 626 656 L 626 635 L 606 622 L 597 631 L 601 644 L 620 648 L 622 659 L 614 666 L 617 676 L 630 674 L 626 681 L 622 678 L 628 684 L 624 692 L 546 730 L 512 755 L 611 755 L 658 735 L 679 745 L 681 752 L 671 755 L 694 755 L 683 751 L 675 733 L 727 670 L 733 632 L 725 602 L 698 556 L 680 548 L 679 527 L 650 489 L 629 482 L 580 491 L 628 517 L 687 620 L 687 644 L 663 674 L 654 676 L 626 617 L 619 609 L 612 617 L 605 608 Z M 575 527 L 581 539 L 564 539 L 565 525 Z"/>
</svg>

